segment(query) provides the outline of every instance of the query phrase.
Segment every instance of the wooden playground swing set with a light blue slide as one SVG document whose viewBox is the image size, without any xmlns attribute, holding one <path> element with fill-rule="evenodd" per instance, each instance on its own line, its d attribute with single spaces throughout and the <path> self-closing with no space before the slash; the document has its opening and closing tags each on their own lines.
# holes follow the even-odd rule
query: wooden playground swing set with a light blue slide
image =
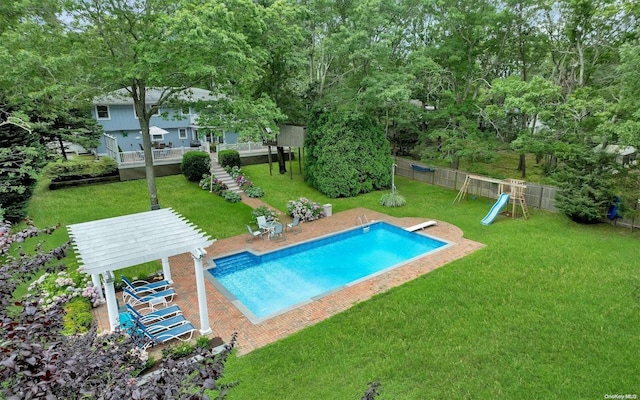
<svg viewBox="0 0 640 400">
<path fill-rule="evenodd" d="M 489 182 L 498 185 L 498 200 L 493 204 L 489 213 L 482 219 L 482 221 L 480 221 L 482 225 L 491 224 L 505 206 L 507 206 L 507 210 L 509 209 L 509 203 L 512 205 L 512 208 L 510 212 L 507 212 L 511 214 L 512 218 L 516 218 L 517 206 L 520 206 L 519 208 L 522 210 L 522 217 L 524 219 L 529 217 L 527 202 L 524 198 L 524 191 L 527 188 L 527 185 L 525 184 L 525 181 L 517 179 L 499 180 L 478 175 L 467 175 L 453 202 L 460 202 L 463 198 L 466 198 L 470 191 L 469 189 L 473 188 L 478 182 Z"/>
</svg>

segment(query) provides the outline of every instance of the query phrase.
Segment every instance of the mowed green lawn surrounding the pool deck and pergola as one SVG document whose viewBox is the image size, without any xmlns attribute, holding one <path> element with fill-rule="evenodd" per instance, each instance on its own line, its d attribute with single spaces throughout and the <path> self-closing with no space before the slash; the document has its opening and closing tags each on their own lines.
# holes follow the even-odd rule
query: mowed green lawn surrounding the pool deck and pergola
<svg viewBox="0 0 640 400">
<path fill-rule="evenodd" d="M 487 245 L 474 254 L 228 362 L 239 381 L 230 399 L 359 399 L 379 380 L 382 399 L 601 399 L 640 392 L 638 232 L 580 226 L 531 210 L 528 221 L 480 225 L 491 203 L 452 205 L 456 195 L 398 177 L 407 205 L 385 209 L 381 193 L 328 199 L 266 165 L 244 168 L 264 201 L 284 211 L 306 196 L 335 212 L 362 206 L 437 218 Z M 157 180 L 173 207 L 214 237 L 244 233 L 251 218 L 183 177 Z M 31 202 L 39 226 L 148 209 L 144 181 L 48 192 Z M 64 241 L 61 230 L 50 238 Z M 215 333 L 215 316 L 211 325 Z"/>
</svg>

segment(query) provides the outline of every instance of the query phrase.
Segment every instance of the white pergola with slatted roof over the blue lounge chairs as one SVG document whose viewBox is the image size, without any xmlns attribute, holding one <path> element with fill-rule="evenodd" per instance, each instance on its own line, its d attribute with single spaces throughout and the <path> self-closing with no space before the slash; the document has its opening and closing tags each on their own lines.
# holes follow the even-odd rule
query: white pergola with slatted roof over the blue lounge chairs
<svg viewBox="0 0 640 400">
<path fill-rule="evenodd" d="M 101 296 L 102 275 L 103 299 L 106 297 L 112 331 L 120 325 L 113 271 L 161 259 L 164 279 L 171 282 L 169 257 L 190 252 L 198 290 L 200 333 L 211 333 L 202 260 L 207 254 L 205 248 L 215 239 L 171 208 L 73 224 L 67 229 L 80 263 L 79 270 L 91 275 Z"/>
</svg>

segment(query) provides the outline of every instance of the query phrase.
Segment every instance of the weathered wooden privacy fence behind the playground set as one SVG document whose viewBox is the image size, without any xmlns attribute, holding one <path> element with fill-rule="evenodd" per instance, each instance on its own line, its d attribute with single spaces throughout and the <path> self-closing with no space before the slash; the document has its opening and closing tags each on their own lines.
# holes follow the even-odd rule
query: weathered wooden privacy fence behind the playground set
<svg viewBox="0 0 640 400">
<path fill-rule="evenodd" d="M 404 158 L 396 158 L 395 162 L 397 165 L 396 175 L 456 191 L 460 190 L 467 178 L 467 175 L 478 175 L 449 168 L 427 167 Z M 414 167 L 412 167 L 412 164 Z M 525 189 L 524 198 L 529 207 L 551 212 L 559 212 L 554 204 L 556 191 L 558 190 L 555 186 L 540 185 L 531 182 L 527 182 L 526 185 L 527 188 Z M 498 193 L 498 183 L 475 180 L 474 183 L 469 186 L 468 193 L 472 196 L 487 197 L 491 199 L 496 199 L 500 195 L 500 193 Z M 451 198 L 451 201 L 453 201 L 453 197 Z M 638 222 L 640 221 L 636 221 L 632 218 L 619 218 L 616 220 L 616 224 L 618 225 L 629 227 L 633 226 L 634 228 L 640 227 Z"/>
</svg>

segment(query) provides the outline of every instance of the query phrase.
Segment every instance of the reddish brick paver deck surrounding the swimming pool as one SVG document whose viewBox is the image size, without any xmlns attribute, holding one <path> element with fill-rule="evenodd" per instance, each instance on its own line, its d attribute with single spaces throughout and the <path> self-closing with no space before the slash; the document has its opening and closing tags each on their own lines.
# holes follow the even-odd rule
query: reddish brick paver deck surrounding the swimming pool
<svg viewBox="0 0 640 400">
<path fill-rule="evenodd" d="M 255 199 L 244 198 L 243 200 L 252 206 L 259 205 L 259 201 Z M 255 202 L 255 204 L 252 204 L 252 201 Z M 362 218 L 362 216 L 366 216 L 370 222 L 374 220 L 385 221 L 400 227 L 413 226 L 427 220 L 427 218 L 395 218 L 369 209 L 356 208 L 334 213 L 330 217 L 302 224 L 302 231 L 300 233 L 293 234 L 287 232 L 285 235 L 286 240 L 282 241 L 256 238 L 253 243 L 248 243 L 248 233 L 220 239 L 206 249 L 206 260 L 209 261 L 212 258 L 246 249 L 262 253 L 290 246 L 295 243 L 352 228 L 359 222 L 358 217 Z M 286 218 L 288 217 L 283 217 L 281 222 L 288 222 L 285 220 Z M 231 335 L 237 332 L 238 354 L 246 354 L 307 326 L 329 318 L 332 315 L 350 308 L 355 303 L 371 298 L 375 294 L 399 286 L 484 247 L 481 243 L 463 238 L 463 233 L 459 228 L 442 221 L 438 221 L 437 226 L 418 232 L 445 239 L 451 243 L 451 246 L 425 257 L 415 259 L 407 264 L 361 281 L 355 285 L 332 292 L 311 303 L 274 316 L 258 324 L 253 324 L 249 321 L 213 284 L 207 281 L 205 286 L 207 303 L 209 305 L 209 325 L 213 330 L 211 336 L 220 336 L 224 341 L 228 341 Z M 199 328 L 200 317 L 198 316 L 198 296 L 196 292 L 193 259 L 190 254 L 182 254 L 171 257 L 169 262 L 171 264 L 171 275 L 174 281 L 173 287 L 178 293 L 175 303 L 183 310 L 185 317 Z M 210 267 L 210 263 L 205 265 L 205 268 Z M 207 274 L 206 271 L 205 274 Z M 120 294 L 118 293 L 118 295 Z M 94 309 L 94 314 L 98 321 L 99 329 L 107 329 L 109 325 L 106 305 Z"/>
</svg>

